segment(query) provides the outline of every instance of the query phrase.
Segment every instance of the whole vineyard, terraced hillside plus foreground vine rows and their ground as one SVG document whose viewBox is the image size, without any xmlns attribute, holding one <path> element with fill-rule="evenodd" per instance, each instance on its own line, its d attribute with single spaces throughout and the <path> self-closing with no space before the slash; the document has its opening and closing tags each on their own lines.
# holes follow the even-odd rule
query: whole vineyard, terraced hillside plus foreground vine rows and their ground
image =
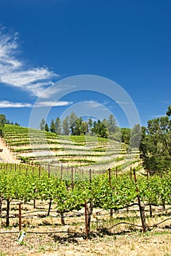
<svg viewBox="0 0 171 256">
<path fill-rule="evenodd" d="M 0 163 L 0 255 L 20 255 L 20 251 L 23 255 L 23 244 L 27 255 L 30 250 L 40 252 L 37 248 L 42 244 L 44 252 L 50 249 L 56 255 L 60 243 L 66 243 L 64 250 L 73 241 L 82 247 L 93 239 L 107 244 L 109 238 L 112 248 L 120 248 L 122 244 L 116 244 L 120 236 L 121 240 L 137 236 L 140 241 L 140 234 L 152 229 L 165 236 L 162 255 L 168 255 L 170 170 L 164 176 L 141 175 L 137 150 L 127 153 L 125 144 L 102 138 L 57 136 L 6 125 L 4 143 L 25 164 Z M 18 240 L 18 231 L 26 234 L 24 241 Z M 156 238 L 153 244 L 156 248 Z M 103 251 L 103 255 L 113 253 Z"/>
</svg>

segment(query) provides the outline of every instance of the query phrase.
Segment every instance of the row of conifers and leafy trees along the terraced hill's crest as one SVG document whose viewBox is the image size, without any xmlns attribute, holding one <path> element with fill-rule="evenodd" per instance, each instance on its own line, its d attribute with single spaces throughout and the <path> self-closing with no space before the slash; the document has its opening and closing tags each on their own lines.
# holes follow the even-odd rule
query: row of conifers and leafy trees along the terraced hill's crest
<svg viewBox="0 0 171 256">
<path fill-rule="evenodd" d="M 52 119 L 50 126 L 45 121 L 45 118 L 42 118 L 39 129 L 46 132 L 54 132 L 57 135 L 96 135 L 100 138 L 113 139 L 128 144 L 128 151 L 131 151 L 131 148 L 138 148 L 140 146 L 140 124 L 135 124 L 133 129 L 118 127 L 113 114 L 102 121 L 99 119 L 93 121 L 92 118 L 84 121 L 83 118 L 77 117 L 72 112 L 63 121 L 58 117 L 55 120 Z"/>
</svg>

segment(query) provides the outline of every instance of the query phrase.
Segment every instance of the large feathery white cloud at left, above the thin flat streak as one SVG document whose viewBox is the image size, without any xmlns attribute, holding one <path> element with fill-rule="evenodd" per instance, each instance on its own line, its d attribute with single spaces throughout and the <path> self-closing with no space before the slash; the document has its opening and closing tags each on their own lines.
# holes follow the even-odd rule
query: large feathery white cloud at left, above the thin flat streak
<svg viewBox="0 0 171 256">
<path fill-rule="evenodd" d="M 18 48 L 18 34 L 6 33 L 5 28 L 0 27 L 0 82 L 28 91 L 35 97 L 47 98 L 51 91 L 49 94 L 43 91 L 53 85 L 58 75 L 47 67 L 26 68 L 17 57 Z"/>
</svg>

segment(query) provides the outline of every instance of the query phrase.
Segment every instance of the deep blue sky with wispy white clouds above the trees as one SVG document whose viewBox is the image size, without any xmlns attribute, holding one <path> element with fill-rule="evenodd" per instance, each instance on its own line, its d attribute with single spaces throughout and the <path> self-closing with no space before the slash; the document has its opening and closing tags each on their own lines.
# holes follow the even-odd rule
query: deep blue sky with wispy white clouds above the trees
<svg viewBox="0 0 171 256">
<path fill-rule="evenodd" d="M 48 122 L 79 110 L 113 113 L 128 127 L 121 104 L 98 90 L 66 90 L 55 102 L 60 80 L 95 75 L 121 86 L 142 125 L 164 115 L 171 104 L 170 17 L 169 0 L 0 0 L 0 113 L 28 127 L 38 100 L 39 118 L 48 108 Z"/>
</svg>

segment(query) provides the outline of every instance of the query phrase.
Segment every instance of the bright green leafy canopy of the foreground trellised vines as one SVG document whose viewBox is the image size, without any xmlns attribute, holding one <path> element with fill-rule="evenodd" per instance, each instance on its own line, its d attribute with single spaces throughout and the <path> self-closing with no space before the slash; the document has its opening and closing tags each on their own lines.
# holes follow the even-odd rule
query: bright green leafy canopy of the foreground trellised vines
<svg viewBox="0 0 171 256">
<path fill-rule="evenodd" d="M 58 213 L 64 214 L 79 210 L 86 203 L 93 208 L 125 208 L 137 203 L 137 189 L 130 173 L 108 172 L 94 178 L 72 182 L 61 180 L 57 176 L 29 165 L 0 164 L 0 197 L 1 200 L 50 200 L 56 204 Z M 171 204 L 171 173 L 164 176 L 138 176 L 137 186 L 140 200 L 144 206 Z"/>
</svg>

